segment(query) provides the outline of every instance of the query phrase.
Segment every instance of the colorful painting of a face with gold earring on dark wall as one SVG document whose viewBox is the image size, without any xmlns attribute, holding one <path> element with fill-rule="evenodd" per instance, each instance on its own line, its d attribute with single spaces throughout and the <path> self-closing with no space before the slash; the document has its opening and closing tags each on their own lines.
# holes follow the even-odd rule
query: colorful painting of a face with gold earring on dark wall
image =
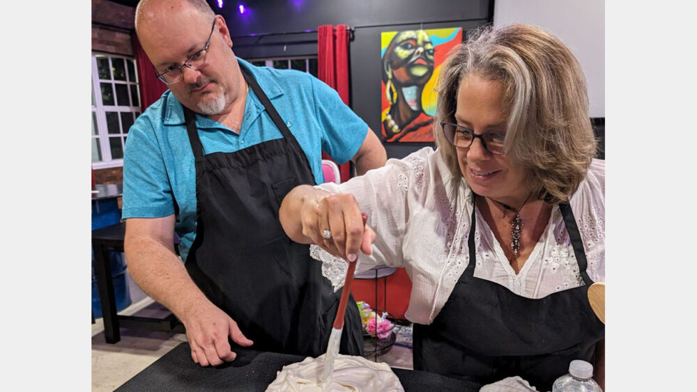
<svg viewBox="0 0 697 392">
<path fill-rule="evenodd" d="M 436 81 L 462 29 L 381 33 L 383 142 L 433 142 Z"/>
</svg>

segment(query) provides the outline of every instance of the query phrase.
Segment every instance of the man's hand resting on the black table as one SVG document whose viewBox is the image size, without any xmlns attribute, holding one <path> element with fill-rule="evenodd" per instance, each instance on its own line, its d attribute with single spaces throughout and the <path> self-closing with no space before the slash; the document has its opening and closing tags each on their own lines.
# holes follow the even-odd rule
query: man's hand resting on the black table
<svg viewBox="0 0 697 392">
<path fill-rule="evenodd" d="M 201 366 L 218 366 L 233 361 L 237 354 L 230 350 L 228 336 L 240 346 L 249 347 L 254 342 L 245 337 L 235 320 L 217 306 L 206 304 L 193 307 L 185 320 L 186 338 L 191 346 L 191 358 Z"/>
</svg>

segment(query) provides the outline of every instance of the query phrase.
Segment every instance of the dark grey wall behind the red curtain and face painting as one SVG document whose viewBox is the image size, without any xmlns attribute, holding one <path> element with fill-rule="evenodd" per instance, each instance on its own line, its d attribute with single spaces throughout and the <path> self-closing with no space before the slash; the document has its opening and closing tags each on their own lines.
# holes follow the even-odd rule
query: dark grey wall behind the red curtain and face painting
<svg viewBox="0 0 697 392">
<path fill-rule="evenodd" d="M 349 104 L 378 133 L 381 130 L 380 33 L 421 26 L 424 29 L 459 26 L 466 32 L 493 18 L 493 0 L 245 1 L 244 15 L 229 4 L 221 10 L 217 1 L 208 3 L 225 18 L 233 36 L 233 50 L 242 58 L 315 55 L 318 26 L 351 26 L 354 31 L 349 45 Z M 388 143 L 385 149 L 388 157 L 401 158 L 423 146 L 429 144 Z"/>
</svg>

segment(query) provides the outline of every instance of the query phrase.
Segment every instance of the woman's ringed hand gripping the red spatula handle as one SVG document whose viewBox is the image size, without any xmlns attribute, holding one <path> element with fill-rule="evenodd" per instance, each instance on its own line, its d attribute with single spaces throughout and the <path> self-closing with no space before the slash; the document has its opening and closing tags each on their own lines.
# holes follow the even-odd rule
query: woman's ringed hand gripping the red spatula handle
<svg viewBox="0 0 697 392">
<path fill-rule="evenodd" d="M 359 250 L 372 252 L 375 232 L 363 224 L 360 206 L 351 194 L 300 185 L 284 198 L 279 218 L 291 240 L 316 244 L 333 256 L 355 261 Z"/>
</svg>

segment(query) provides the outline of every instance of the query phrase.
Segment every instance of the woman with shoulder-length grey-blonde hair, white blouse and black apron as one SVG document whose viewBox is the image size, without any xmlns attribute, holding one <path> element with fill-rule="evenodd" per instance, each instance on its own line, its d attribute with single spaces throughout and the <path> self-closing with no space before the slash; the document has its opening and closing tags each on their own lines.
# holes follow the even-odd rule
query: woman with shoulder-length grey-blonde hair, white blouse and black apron
<svg viewBox="0 0 697 392">
<path fill-rule="evenodd" d="M 437 150 L 293 189 L 284 230 L 347 260 L 360 249 L 358 270 L 406 267 L 417 370 L 548 391 L 585 359 L 604 386 L 587 299 L 604 281 L 604 162 L 579 63 L 536 27 L 484 29 L 447 59 L 437 117 Z"/>
</svg>

